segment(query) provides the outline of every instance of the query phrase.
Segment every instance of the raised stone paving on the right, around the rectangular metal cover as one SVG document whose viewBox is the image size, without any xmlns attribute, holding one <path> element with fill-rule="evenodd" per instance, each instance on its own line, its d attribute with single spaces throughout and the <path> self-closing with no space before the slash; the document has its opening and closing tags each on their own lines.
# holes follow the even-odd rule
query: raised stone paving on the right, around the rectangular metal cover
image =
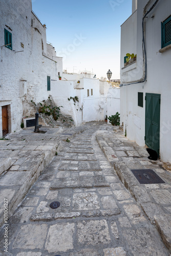
<svg viewBox="0 0 171 256">
<path fill-rule="evenodd" d="M 156 223 L 166 247 L 170 249 L 171 234 L 169 230 L 171 225 L 169 218 L 161 219 L 161 216 L 171 217 L 171 212 L 168 210 L 171 206 L 170 164 L 160 160 L 149 160 L 146 148 L 125 138 L 117 126 L 114 131 L 113 127 L 109 128 L 108 132 L 99 131 L 96 134 L 96 139 L 122 183 L 130 190 L 151 223 Z M 131 169 L 143 168 L 153 169 L 165 181 L 165 184 L 140 184 Z M 147 252 L 145 253 L 144 255 L 147 255 Z"/>
</svg>

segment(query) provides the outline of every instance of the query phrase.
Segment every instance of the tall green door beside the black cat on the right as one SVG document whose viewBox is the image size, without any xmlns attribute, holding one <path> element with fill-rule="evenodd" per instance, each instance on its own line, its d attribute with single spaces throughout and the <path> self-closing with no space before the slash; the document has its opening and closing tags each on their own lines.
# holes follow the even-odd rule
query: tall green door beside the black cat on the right
<svg viewBox="0 0 171 256">
<path fill-rule="evenodd" d="M 145 94 L 145 144 L 159 155 L 160 94 Z"/>
</svg>

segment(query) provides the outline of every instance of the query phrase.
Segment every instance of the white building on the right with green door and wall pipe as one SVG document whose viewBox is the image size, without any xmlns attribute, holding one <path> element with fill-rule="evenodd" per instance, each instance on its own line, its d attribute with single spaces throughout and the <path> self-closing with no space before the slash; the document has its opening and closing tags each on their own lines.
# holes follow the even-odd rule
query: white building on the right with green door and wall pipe
<svg viewBox="0 0 171 256">
<path fill-rule="evenodd" d="M 121 122 L 139 145 L 171 161 L 171 2 L 133 0 L 121 26 Z M 142 32 L 143 25 L 143 32 Z M 137 54 L 126 62 L 126 54 Z M 131 63 L 130 63 L 131 62 Z"/>
</svg>

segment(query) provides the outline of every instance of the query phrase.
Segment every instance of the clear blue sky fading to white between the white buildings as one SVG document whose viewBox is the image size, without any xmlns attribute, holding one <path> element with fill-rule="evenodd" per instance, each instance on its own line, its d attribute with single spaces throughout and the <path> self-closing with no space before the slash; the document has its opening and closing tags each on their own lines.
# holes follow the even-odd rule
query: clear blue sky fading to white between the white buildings
<svg viewBox="0 0 171 256">
<path fill-rule="evenodd" d="M 97 78 L 120 78 L 120 25 L 132 13 L 132 0 L 32 0 L 47 26 L 47 41 L 63 57 L 68 72 L 93 71 Z"/>
</svg>

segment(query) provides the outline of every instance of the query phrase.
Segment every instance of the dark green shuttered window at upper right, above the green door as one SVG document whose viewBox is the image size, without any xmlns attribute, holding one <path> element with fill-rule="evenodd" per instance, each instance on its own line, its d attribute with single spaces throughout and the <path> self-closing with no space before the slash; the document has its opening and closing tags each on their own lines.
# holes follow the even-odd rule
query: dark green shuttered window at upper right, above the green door
<svg viewBox="0 0 171 256">
<path fill-rule="evenodd" d="M 171 44 L 171 16 L 161 23 L 161 46 L 166 47 Z"/>
</svg>

